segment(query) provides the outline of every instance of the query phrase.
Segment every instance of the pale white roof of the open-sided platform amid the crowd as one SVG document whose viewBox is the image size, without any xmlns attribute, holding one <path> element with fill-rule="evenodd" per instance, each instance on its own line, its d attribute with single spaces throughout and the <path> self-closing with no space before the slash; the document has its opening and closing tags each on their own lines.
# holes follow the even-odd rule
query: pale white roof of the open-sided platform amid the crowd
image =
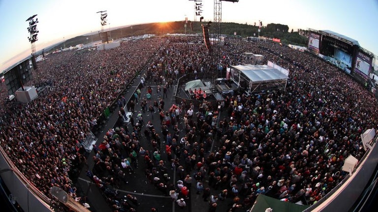
<svg viewBox="0 0 378 212">
<path fill-rule="evenodd" d="M 251 81 L 270 81 L 277 79 L 288 79 L 280 70 L 269 67 L 267 65 L 237 65 L 232 66 L 240 70 L 245 74 Z"/>
</svg>

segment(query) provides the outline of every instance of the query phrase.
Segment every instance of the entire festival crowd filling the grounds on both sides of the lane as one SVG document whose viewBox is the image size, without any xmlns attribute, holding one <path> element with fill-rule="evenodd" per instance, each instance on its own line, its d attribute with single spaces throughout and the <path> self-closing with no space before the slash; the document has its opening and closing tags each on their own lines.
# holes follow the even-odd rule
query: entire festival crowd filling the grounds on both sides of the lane
<svg viewBox="0 0 378 212">
<path fill-rule="evenodd" d="M 150 58 L 144 88 L 134 100 L 141 110 L 134 112 L 135 103 L 127 103 L 134 112 L 132 127 L 109 130 L 94 148 L 95 167 L 87 172 L 111 197 L 114 211 L 136 211 L 138 204 L 130 199 L 122 205 L 112 188 L 127 184 L 127 175 L 141 168 L 152 185 L 182 208 L 193 191 L 209 202 L 209 212 L 218 211 L 220 201 L 231 203 L 230 212 L 251 207 L 259 194 L 312 205 L 344 179 L 341 167 L 347 156 L 361 159 L 365 153 L 360 134 L 377 127 L 377 100 L 331 64 L 271 42 L 226 40 L 214 59 L 197 42 L 188 44 L 182 37 L 166 41 L 58 53 L 40 62 L 36 80 L 53 79 L 52 86 L 18 110 L 1 108 L 1 146 L 8 157 L 46 195 L 55 185 L 74 196 L 68 173 L 85 163 L 80 143 Z M 245 52 L 289 70 L 286 90 L 227 97 L 220 111 L 206 101 L 165 105 L 164 93 L 178 77 L 238 65 Z M 118 104 L 126 119 L 126 103 Z M 159 126 L 152 124 L 154 116 L 160 118 Z"/>
</svg>

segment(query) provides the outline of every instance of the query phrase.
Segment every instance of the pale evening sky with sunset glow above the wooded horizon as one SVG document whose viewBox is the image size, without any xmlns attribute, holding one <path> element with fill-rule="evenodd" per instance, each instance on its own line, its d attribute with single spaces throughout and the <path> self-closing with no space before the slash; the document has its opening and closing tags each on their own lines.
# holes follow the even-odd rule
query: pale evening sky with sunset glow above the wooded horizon
<svg viewBox="0 0 378 212">
<path fill-rule="evenodd" d="M 197 2 L 199 3 L 199 2 Z M 205 22 L 214 19 L 214 0 L 202 0 Z M 293 28 L 328 29 L 346 35 L 378 55 L 378 0 L 222 1 L 222 22 L 253 25 L 262 21 Z M 0 0 L 0 72 L 31 54 L 26 20 L 37 14 L 36 51 L 77 35 L 99 31 L 107 10 L 110 27 L 193 21 L 192 0 Z M 197 21 L 199 18 L 197 18 Z M 109 26 L 107 26 L 109 27 Z M 378 61 L 378 58 L 377 58 Z"/>
</svg>

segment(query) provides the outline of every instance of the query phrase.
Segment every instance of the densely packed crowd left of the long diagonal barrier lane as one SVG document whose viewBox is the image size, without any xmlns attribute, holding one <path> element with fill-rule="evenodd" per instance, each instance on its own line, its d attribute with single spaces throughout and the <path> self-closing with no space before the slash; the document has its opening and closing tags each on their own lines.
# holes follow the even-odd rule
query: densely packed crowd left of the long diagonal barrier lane
<svg viewBox="0 0 378 212">
<path fill-rule="evenodd" d="M 85 163 L 81 145 L 97 118 L 165 42 L 146 39 L 109 51 L 52 53 L 30 84 L 49 82 L 28 104 L 1 106 L 1 146 L 44 194 L 50 187 L 75 196 L 69 173 Z"/>
</svg>

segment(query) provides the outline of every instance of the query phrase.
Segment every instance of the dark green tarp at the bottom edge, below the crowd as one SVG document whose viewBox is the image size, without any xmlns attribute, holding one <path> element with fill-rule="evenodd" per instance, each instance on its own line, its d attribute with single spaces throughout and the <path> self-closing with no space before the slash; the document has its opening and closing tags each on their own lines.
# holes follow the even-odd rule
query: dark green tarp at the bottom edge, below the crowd
<svg viewBox="0 0 378 212">
<path fill-rule="evenodd" d="M 273 212 L 303 212 L 308 207 L 259 194 L 250 212 L 265 212 L 267 208 L 273 209 Z"/>
</svg>

